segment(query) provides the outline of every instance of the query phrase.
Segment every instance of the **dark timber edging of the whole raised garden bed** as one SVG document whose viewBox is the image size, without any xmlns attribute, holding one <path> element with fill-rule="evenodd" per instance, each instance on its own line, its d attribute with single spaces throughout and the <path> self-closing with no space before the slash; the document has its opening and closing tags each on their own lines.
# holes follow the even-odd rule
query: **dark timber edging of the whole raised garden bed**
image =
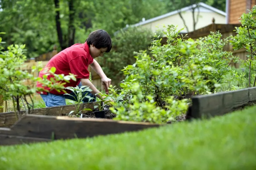
<svg viewBox="0 0 256 170">
<path fill-rule="evenodd" d="M 187 115 L 180 115 L 176 117 L 176 120 L 211 118 L 255 103 L 256 87 L 199 95 L 192 98 L 192 106 L 189 107 Z M 80 109 L 91 108 L 95 111 L 95 105 L 97 102 L 83 103 L 80 105 Z M 160 126 L 148 122 L 111 120 L 115 115 L 108 108 L 105 109 L 106 116 L 104 119 L 95 118 L 93 111 L 83 111 L 83 119 L 66 116 L 71 110 L 75 110 L 74 105 L 34 109 L 31 115 L 26 115 L 23 111 L 23 116 L 19 121 L 13 112 L 1 113 L 0 144 L 93 137 Z"/>
</svg>

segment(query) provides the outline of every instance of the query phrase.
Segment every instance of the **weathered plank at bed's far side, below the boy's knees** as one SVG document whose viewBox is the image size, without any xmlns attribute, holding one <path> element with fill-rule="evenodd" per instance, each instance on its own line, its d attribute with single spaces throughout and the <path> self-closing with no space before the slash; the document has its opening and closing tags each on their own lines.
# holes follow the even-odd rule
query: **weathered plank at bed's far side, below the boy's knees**
<svg viewBox="0 0 256 170">
<path fill-rule="evenodd" d="M 82 103 L 80 105 L 80 109 L 90 108 L 94 109 L 94 105 L 98 105 L 97 102 L 89 102 L 89 103 Z M 45 107 L 45 108 L 37 108 L 33 110 L 35 115 L 53 115 L 53 116 L 61 116 L 67 115 L 70 111 L 75 110 L 75 105 L 65 105 L 65 106 L 55 106 L 55 107 Z M 82 111 L 82 113 L 86 113 L 88 111 Z M 21 111 L 21 115 L 25 115 L 25 110 Z M 17 117 L 14 112 L 5 112 L 0 113 L 0 127 L 10 127 L 15 122 L 17 122 Z"/>
</svg>

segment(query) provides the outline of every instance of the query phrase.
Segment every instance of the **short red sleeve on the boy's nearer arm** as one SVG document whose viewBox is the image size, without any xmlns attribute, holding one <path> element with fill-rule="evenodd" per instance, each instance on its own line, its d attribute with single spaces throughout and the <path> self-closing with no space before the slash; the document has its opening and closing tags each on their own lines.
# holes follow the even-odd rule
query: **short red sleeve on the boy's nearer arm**
<svg viewBox="0 0 256 170">
<path fill-rule="evenodd" d="M 76 78 L 89 78 L 90 76 L 90 73 L 88 71 L 89 62 L 88 62 L 88 58 L 84 56 L 79 56 L 72 59 L 69 62 L 71 73 L 76 75 Z"/>
</svg>

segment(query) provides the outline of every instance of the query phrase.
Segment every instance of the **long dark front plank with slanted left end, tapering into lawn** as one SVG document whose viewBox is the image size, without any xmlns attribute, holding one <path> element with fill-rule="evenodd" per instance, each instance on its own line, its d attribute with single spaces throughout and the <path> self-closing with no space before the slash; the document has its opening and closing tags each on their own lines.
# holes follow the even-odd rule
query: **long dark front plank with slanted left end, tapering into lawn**
<svg viewBox="0 0 256 170">
<path fill-rule="evenodd" d="M 138 131 L 159 126 L 146 122 L 25 115 L 13 125 L 11 130 L 0 130 L 0 134 L 48 139 L 52 139 L 52 135 L 54 135 L 54 139 L 69 139 Z"/>
</svg>

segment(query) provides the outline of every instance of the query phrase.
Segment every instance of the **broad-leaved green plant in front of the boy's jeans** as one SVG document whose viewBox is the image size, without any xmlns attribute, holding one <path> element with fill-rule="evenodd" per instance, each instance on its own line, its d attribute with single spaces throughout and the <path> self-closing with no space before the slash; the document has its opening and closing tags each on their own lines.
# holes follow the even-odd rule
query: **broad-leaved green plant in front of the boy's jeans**
<svg viewBox="0 0 256 170">
<path fill-rule="evenodd" d="M 64 95 L 69 95 L 69 96 L 73 97 L 74 100 L 77 102 L 77 104 L 75 104 L 76 110 L 75 111 L 74 110 L 70 111 L 68 115 L 70 115 L 72 117 L 78 117 L 83 110 L 92 111 L 92 109 L 90 109 L 90 108 L 84 108 L 84 109 L 80 110 L 80 105 L 83 102 L 84 98 L 88 98 L 89 101 L 93 100 L 93 98 L 91 96 L 87 95 L 88 93 L 86 93 L 84 95 L 84 92 L 91 92 L 92 91 L 92 89 L 90 89 L 89 86 L 83 85 L 80 88 L 78 86 L 76 86 L 76 87 L 66 87 L 66 89 L 74 92 L 75 96 L 73 96 L 69 93 L 65 93 Z M 74 112 L 75 112 L 75 114 L 72 115 L 72 113 L 74 113 Z"/>
</svg>

